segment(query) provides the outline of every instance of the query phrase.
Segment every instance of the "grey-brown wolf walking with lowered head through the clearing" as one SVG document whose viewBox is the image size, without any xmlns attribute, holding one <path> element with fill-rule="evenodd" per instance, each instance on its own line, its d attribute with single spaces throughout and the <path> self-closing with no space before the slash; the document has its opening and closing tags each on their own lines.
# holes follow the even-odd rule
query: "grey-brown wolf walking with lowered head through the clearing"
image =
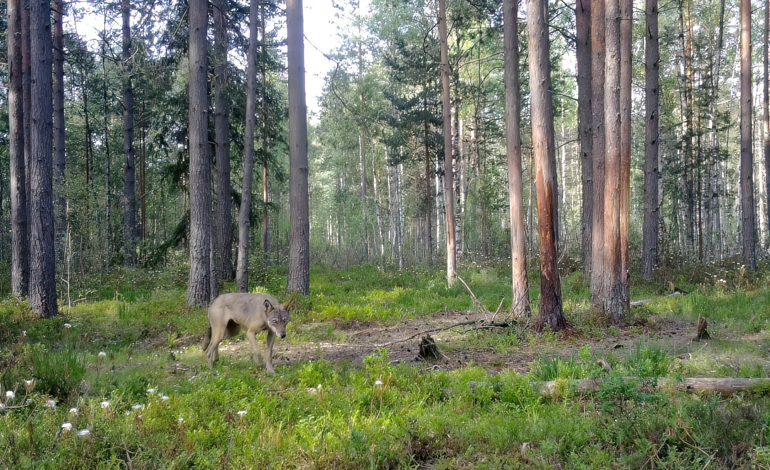
<svg viewBox="0 0 770 470">
<path fill-rule="evenodd" d="M 219 343 L 243 330 L 246 330 L 246 337 L 254 351 L 254 362 L 259 366 L 256 334 L 267 331 L 265 365 L 267 373 L 274 374 L 273 342 L 276 336 L 286 338 L 288 322 L 289 302 L 280 304 L 272 295 L 240 292 L 219 295 L 209 305 L 209 331 L 203 338 L 209 368 L 214 368 L 214 362 L 219 359 Z"/>
</svg>

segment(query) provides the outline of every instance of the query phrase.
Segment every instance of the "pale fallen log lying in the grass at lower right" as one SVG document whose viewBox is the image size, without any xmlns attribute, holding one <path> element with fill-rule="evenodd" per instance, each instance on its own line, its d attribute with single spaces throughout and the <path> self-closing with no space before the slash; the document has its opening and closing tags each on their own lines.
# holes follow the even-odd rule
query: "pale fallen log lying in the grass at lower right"
<svg viewBox="0 0 770 470">
<path fill-rule="evenodd" d="M 642 382 L 642 378 L 624 377 L 627 380 Z M 650 379 L 644 380 L 644 386 L 650 387 Z M 578 393 L 598 392 L 604 385 L 604 378 L 583 378 L 581 380 L 552 380 L 540 384 L 541 395 L 557 396 L 566 391 Z M 686 392 L 699 395 L 730 396 L 738 392 L 770 392 L 770 378 L 658 378 L 653 384 L 665 392 Z"/>
</svg>

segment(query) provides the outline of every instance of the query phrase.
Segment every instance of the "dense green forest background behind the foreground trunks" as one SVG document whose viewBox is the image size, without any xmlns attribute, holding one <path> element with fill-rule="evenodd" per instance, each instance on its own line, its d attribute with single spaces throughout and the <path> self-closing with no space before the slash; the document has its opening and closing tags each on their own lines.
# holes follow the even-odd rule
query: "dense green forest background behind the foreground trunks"
<svg viewBox="0 0 770 470">
<path fill-rule="evenodd" d="M 644 208 L 644 5 L 635 5 L 631 139 L 631 260 L 638 266 Z M 5 3 L 3 4 L 5 8 Z M 59 298 L 87 272 L 136 261 L 145 268 L 186 262 L 189 221 L 188 9 L 186 2 L 132 2 L 130 49 L 119 2 L 58 3 L 62 34 L 65 166 L 55 182 Z M 256 54 L 255 196 L 250 264 L 283 263 L 289 245 L 285 17 L 259 4 Z M 434 2 L 341 2 L 320 111 L 310 116 L 310 256 L 313 263 L 372 262 L 403 268 L 444 256 L 444 144 Z M 219 7 L 213 7 L 212 12 Z M 239 210 L 246 122 L 248 5 L 224 2 L 226 62 L 218 62 L 217 16 L 209 14 L 209 143 L 215 168 L 216 103 L 229 113 L 229 182 Z M 577 126 L 574 5 L 548 11 L 557 159 L 559 260 L 581 266 L 581 155 Z M 660 5 L 661 265 L 718 262 L 741 252 L 738 172 L 738 5 L 678 0 Z M 755 16 L 761 16 L 758 10 Z M 526 8 L 521 5 L 522 148 L 527 254 L 537 255 L 532 177 Z M 3 18 L 6 18 L 3 15 Z M 101 22 L 96 37 L 83 25 Z M 461 263 L 510 256 L 500 2 L 448 2 L 452 154 Z M 762 155 L 762 21 L 753 22 L 755 155 Z M 84 23 L 85 22 L 85 23 Z M 0 27 L 6 28 L 5 20 Z M 314 25 L 306 25 L 307 28 Z M 0 35 L 0 61 L 7 63 Z M 220 43 L 221 44 L 221 43 Z M 322 47 L 322 46 L 321 46 Z M 225 68 L 223 73 L 222 68 Z M 7 82 L 5 68 L 0 80 Z M 123 87 L 135 108 L 136 249 L 126 246 Z M 226 77 L 220 85 L 217 77 Z M 8 88 L 0 113 L 8 113 Z M 0 259 L 11 259 L 8 119 L 0 119 Z M 768 247 L 765 165 L 754 165 L 758 247 Z M 216 186 L 216 185 L 215 185 Z M 214 225 L 219 224 L 215 215 Z M 231 216 L 230 221 L 236 221 Z M 235 227 L 234 222 L 233 228 Z M 232 232 L 237 235 L 237 230 Z M 237 236 L 229 235 L 233 250 Z M 130 264 L 130 263 L 129 263 Z M 229 267 L 228 269 L 233 269 Z M 7 272 L 7 271 L 6 271 Z M 256 270 L 258 272 L 258 269 Z M 223 272 L 221 278 L 232 278 Z M 2 283 L 8 289 L 8 275 Z M 84 286 L 79 286 L 80 288 Z"/>
</svg>

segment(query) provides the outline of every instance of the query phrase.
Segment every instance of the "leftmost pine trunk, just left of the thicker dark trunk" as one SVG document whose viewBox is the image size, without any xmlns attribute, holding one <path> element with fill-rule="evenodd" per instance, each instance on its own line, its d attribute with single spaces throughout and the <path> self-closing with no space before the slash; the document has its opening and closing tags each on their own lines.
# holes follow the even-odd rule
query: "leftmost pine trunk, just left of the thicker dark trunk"
<svg viewBox="0 0 770 470">
<path fill-rule="evenodd" d="M 29 227 L 24 162 L 22 0 L 8 0 L 8 154 L 11 170 L 11 294 L 29 293 Z M 28 138 L 28 135 L 26 136 Z"/>
</svg>

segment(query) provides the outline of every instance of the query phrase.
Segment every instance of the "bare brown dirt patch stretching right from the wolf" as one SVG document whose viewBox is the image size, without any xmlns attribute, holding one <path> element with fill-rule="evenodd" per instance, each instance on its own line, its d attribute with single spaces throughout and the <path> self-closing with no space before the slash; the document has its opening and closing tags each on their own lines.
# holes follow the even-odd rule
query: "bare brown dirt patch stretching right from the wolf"
<svg viewBox="0 0 770 470">
<path fill-rule="evenodd" d="M 498 322 L 503 318 L 495 318 Z M 420 317 L 400 322 L 397 325 L 383 326 L 377 322 L 352 322 L 336 326 L 344 335 L 341 342 L 302 342 L 293 343 L 277 340 L 273 353 L 274 365 L 289 365 L 295 362 L 313 361 L 318 358 L 330 362 L 351 362 L 360 365 L 363 358 L 375 352 L 377 348 L 388 348 L 393 362 L 406 362 L 423 368 L 441 368 L 451 370 L 474 362 L 490 372 L 513 369 L 516 372 L 529 372 L 530 363 L 545 356 L 568 358 L 577 355 L 584 345 L 588 345 L 595 355 L 602 355 L 612 349 L 631 350 L 638 342 L 659 341 L 673 352 L 689 352 L 696 328 L 691 322 L 678 318 L 655 316 L 648 318 L 644 325 L 634 325 L 614 330 L 617 334 L 608 334 L 603 328 L 601 336 L 587 335 L 572 328 L 537 344 L 524 335 L 522 325 L 511 328 L 494 328 L 495 335 L 519 335 L 521 341 L 507 352 L 500 352 L 494 347 L 475 347 L 474 338 L 486 335 L 474 330 L 474 325 L 453 325 L 467 322 L 490 320 L 489 315 L 479 312 L 438 312 L 432 317 Z M 303 325 L 300 328 L 313 328 Z M 426 362 L 417 358 L 418 343 L 423 333 L 430 333 L 446 360 Z M 259 337 L 258 337 L 259 338 Z M 261 346 L 264 345 L 260 341 Z M 245 338 L 220 345 L 220 354 L 250 355 L 251 348 Z"/>
</svg>

